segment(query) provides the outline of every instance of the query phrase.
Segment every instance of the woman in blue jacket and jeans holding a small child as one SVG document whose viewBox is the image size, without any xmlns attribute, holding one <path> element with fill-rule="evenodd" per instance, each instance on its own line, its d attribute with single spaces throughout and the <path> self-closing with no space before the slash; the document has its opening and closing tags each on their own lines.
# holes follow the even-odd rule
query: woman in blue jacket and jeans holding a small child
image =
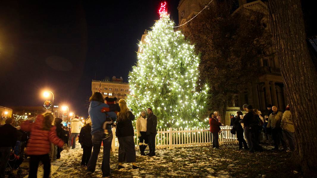
<svg viewBox="0 0 317 178">
<path fill-rule="evenodd" d="M 87 164 L 86 175 L 92 174 L 96 169 L 96 163 L 98 154 L 100 152 L 101 142 L 103 144 L 103 157 L 102 157 L 102 177 L 107 177 L 110 175 L 110 148 L 113 135 L 111 134 L 108 138 L 105 138 L 104 130 L 102 128 L 104 122 L 106 122 L 106 114 L 101 112 L 101 109 L 108 108 L 100 92 L 95 92 L 90 98 L 90 105 L 88 109 L 88 114 L 91 120 L 91 134 L 93 142 L 93 153 Z M 111 115 L 113 113 L 113 115 Z M 107 113 L 110 117 L 116 119 L 114 112 Z M 111 132 L 111 126 L 107 127 L 108 131 Z"/>
</svg>

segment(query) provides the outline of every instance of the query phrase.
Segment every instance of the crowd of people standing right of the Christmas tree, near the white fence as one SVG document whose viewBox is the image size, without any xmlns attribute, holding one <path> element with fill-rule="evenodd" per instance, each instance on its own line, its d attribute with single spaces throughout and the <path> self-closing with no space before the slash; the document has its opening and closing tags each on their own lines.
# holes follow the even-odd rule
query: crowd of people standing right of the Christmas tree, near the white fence
<svg viewBox="0 0 317 178">
<path fill-rule="evenodd" d="M 230 115 L 230 126 L 233 126 L 231 133 L 236 134 L 239 142 L 239 150 L 249 150 L 250 152 L 263 151 L 260 140 L 268 140 L 274 145 L 272 150 L 279 150 L 281 143 L 282 151 L 292 152 L 295 150 L 294 144 L 294 123 L 289 105 L 284 113 L 278 111 L 276 106 L 268 104 L 267 115 L 262 117 L 262 112 L 254 109 L 252 105 L 243 105 L 244 114 L 238 111 L 236 116 Z M 212 147 L 219 149 L 218 133 L 221 132 L 218 113 L 209 114 L 210 133 L 212 135 Z M 261 138 L 262 133 L 262 138 Z M 245 139 L 247 141 L 245 141 Z M 288 149 L 289 147 L 289 149 Z"/>
</svg>

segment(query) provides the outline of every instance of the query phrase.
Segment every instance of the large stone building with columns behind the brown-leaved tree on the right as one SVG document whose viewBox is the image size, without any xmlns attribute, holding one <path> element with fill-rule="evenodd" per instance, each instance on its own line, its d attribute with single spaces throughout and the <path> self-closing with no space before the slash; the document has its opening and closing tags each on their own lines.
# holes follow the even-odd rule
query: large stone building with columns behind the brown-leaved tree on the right
<svg viewBox="0 0 317 178">
<path fill-rule="evenodd" d="M 210 0 L 180 0 L 177 8 L 179 25 L 190 20 L 209 2 Z M 216 3 L 216 1 L 213 3 Z M 243 9 L 251 9 L 264 13 L 265 17 L 262 20 L 263 27 L 268 30 L 268 33 L 271 33 L 268 23 L 268 8 L 264 0 L 237 0 L 236 3 L 238 6 L 233 14 Z M 273 54 L 274 47 L 267 49 L 266 52 Z M 263 114 L 268 104 L 275 105 L 281 110 L 285 109 L 287 101 L 277 57 L 271 55 L 270 57 L 260 59 L 259 63 L 263 75 L 252 85 L 248 86 L 246 93 L 235 96 L 231 106 L 226 108 L 226 115 L 222 116 L 223 120 L 225 120 L 225 125 L 230 125 L 230 114 L 236 115 L 236 112 L 242 110 L 241 107 L 245 103 L 252 104 L 254 108 L 258 108 Z"/>
</svg>

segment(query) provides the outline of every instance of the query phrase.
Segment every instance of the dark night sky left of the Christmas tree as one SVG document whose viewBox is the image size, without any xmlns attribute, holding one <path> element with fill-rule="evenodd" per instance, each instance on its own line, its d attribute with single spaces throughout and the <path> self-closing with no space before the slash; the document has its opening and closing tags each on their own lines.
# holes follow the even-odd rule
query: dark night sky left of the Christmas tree
<svg viewBox="0 0 317 178">
<path fill-rule="evenodd" d="M 167 1 L 177 24 L 178 2 Z M 127 82 L 138 40 L 159 19 L 159 3 L 2 2 L 0 106 L 42 106 L 42 91 L 49 89 L 55 105 L 86 117 L 92 79 Z"/>
</svg>

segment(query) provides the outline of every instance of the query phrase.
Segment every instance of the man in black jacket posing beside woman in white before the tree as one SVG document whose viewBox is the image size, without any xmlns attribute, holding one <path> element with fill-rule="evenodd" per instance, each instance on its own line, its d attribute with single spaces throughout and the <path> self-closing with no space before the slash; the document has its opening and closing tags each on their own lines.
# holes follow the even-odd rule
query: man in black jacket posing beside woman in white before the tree
<svg viewBox="0 0 317 178">
<path fill-rule="evenodd" d="M 149 137 L 149 149 L 150 152 L 148 154 L 149 157 L 155 156 L 155 137 L 158 133 L 156 130 L 156 126 L 158 125 L 158 119 L 156 115 L 152 112 L 152 108 L 149 107 L 146 109 L 148 114 L 147 122 L 146 122 L 146 135 Z"/>
</svg>

